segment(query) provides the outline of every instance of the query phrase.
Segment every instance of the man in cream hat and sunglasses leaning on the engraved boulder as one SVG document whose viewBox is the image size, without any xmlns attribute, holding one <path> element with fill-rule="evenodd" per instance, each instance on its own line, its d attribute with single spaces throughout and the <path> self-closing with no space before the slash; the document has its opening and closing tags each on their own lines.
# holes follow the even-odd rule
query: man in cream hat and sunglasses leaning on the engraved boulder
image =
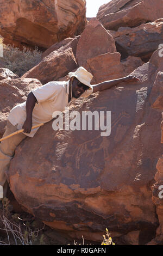
<svg viewBox="0 0 163 256">
<path fill-rule="evenodd" d="M 54 111 L 64 111 L 66 106 L 70 106 L 71 102 L 80 96 L 87 97 L 92 93 L 109 89 L 121 82 L 139 81 L 139 78 L 127 76 L 92 86 L 93 76 L 83 67 L 78 68 L 76 72 L 70 72 L 68 75 L 70 77 L 68 82 L 48 82 L 32 90 L 28 94 L 26 102 L 11 109 L 3 137 L 19 129 L 24 129 L 24 131 L 5 139 L 0 144 L 0 198 L 7 196 L 8 183 L 5 171 L 9 168 L 15 148 L 27 136 L 34 137 L 39 129 L 39 127 L 32 129 L 33 125 L 47 123 L 52 120 Z"/>
</svg>

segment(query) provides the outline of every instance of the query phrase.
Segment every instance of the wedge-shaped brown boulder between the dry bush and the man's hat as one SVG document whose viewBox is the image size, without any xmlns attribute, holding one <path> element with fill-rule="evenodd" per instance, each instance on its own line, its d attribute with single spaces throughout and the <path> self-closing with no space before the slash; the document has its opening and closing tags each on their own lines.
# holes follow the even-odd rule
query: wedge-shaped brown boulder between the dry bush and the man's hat
<svg viewBox="0 0 163 256">
<path fill-rule="evenodd" d="M 45 84 L 49 81 L 57 81 L 58 78 L 66 76 L 75 68 L 77 68 L 77 63 L 72 48 L 65 45 L 48 54 L 38 65 L 26 72 L 22 78 L 36 78 Z"/>
</svg>

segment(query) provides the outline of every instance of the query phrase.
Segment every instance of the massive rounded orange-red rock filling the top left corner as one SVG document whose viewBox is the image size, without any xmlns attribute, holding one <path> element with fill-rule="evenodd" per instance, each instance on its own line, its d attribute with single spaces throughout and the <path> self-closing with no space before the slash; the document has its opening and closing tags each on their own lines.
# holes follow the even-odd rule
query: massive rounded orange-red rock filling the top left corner
<svg viewBox="0 0 163 256">
<path fill-rule="evenodd" d="M 85 0 L 1 1 L 3 42 L 46 50 L 55 42 L 79 35 L 86 25 L 85 4 Z"/>
</svg>

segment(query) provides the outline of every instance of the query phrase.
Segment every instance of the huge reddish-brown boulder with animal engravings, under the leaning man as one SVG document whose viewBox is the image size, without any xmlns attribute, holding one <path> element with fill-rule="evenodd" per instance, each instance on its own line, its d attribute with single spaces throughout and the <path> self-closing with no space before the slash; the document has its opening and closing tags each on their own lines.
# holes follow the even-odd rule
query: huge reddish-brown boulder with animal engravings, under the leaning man
<svg viewBox="0 0 163 256">
<path fill-rule="evenodd" d="M 158 51 L 131 73 L 139 83 L 121 83 L 71 106 L 80 115 L 104 111 L 105 119 L 111 111 L 108 136 L 100 129 L 54 131 L 50 121 L 21 142 L 6 174 L 24 210 L 74 239 L 101 241 L 107 227 L 117 244 L 151 241 L 158 227 L 151 186 L 162 154 L 161 112 L 149 102 L 163 68 Z"/>
</svg>

